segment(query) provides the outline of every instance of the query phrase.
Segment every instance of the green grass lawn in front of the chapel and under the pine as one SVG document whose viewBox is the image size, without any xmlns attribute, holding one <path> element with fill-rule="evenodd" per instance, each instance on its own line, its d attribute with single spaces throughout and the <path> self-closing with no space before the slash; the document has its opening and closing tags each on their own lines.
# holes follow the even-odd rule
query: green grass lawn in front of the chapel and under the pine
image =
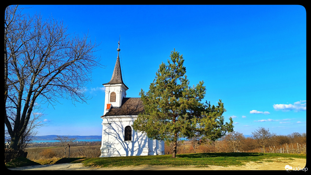
<svg viewBox="0 0 311 175">
<path fill-rule="evenodd" d="M 168 166 L 241 166 L 250 161 L 271 161 L 272 158 L 300 158 L 306 159 L 302 154 L 279 154 L 279 153 L 196 153 L 181 154 L 172 158 L 172 155 L 157 156 L 128 156 L 128 157 L 102 157 L 87 158 L 73 161 L 72 163 L 83 163 L 85 166 L 97 167 L 120 167 L 139 165 L 168 165 Z"/>
</svg>

